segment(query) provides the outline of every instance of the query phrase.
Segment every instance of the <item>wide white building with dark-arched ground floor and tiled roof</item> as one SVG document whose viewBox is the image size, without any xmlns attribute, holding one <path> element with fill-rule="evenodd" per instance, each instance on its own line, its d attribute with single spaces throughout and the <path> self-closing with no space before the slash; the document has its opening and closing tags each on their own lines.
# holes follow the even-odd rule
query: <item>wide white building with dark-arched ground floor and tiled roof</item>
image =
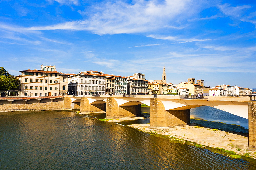
<svg viewBox="0 0 256 170">
<path fill-rule="evenodd" d="M 92 71 L 92 70 L 80 72 L 79 74 L 71 74 L 70 76 L 68 76 L 68 94 L 69 95 L 92 95 L 92 94 L 104 95 L 106 94 L 106 78 L 107 78 L 107 75 L 105 75 L 103 72 Z M 112 91 L 112 88 L 111 88 L 111 91 Z"/>
</svg>

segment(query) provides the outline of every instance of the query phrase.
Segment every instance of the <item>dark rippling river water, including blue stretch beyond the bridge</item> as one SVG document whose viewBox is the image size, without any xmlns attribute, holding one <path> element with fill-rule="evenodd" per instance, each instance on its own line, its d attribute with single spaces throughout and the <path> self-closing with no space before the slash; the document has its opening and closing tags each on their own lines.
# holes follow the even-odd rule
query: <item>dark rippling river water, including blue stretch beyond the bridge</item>
<svg viewBox="0 0 256 170">
<path fill-rule="evenodd" d="M 248 126 L 247 119 L 230 115 L 226 123 Z M 191 109 L 191 116 L 225 119 L 225 114 L 210 108 Z M 0 169 L 256 169 L 255 161 L 231 159 L 121 125 L 148 121 L 117 124 L 70 111 L 1 113 Z"/>
</svg>

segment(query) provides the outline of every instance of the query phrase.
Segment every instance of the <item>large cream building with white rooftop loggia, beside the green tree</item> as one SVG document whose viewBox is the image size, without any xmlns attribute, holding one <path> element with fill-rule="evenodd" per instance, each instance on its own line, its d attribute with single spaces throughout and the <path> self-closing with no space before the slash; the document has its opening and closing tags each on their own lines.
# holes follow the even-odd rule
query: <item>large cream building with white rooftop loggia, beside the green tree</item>
<svg viewBox="0 0 256 170">
<path fill-rule="evenodd" d="M 57 72 L 55 66 L 41 65 L 40 70 L 21 70 L 20 97 L 67 95 L 68 75 Z"/>
</svg>

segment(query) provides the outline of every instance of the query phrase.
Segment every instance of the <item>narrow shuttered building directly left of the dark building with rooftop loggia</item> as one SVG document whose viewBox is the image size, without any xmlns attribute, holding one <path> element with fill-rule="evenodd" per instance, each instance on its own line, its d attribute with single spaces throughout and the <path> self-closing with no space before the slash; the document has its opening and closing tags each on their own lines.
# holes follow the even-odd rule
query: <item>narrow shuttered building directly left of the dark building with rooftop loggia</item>
<svg viewBox="0 0 256 170">
<path fill-rule="evenodd" d="M 127 77 L 114 76 L 115 77 L 115 94 L 127 93 Z"/>
</svg>

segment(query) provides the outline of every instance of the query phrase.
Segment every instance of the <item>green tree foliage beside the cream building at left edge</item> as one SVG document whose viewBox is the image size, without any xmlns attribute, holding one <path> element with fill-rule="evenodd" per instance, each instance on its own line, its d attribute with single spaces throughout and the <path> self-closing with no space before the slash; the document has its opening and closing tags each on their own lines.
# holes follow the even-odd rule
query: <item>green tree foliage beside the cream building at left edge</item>
<svg viewBox="0 0 256 170">
<path fill-rule="evenodd" d="M 4 67 L 0 67 L 0 90 L 18 90 L 20 88 L 20 81 L 10 75 Z"/>
</svg>

